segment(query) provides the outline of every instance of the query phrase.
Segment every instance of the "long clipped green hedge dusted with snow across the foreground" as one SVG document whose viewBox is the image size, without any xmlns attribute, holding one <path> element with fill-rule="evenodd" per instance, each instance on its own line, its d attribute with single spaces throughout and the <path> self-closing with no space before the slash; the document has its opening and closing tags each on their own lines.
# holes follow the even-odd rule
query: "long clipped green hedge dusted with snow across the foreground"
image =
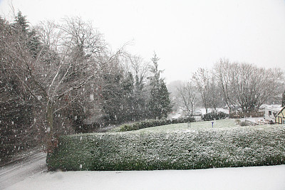
<svg viewBox="0 0 285 190">
<path fill-rule="evenodd" d="M 155 170 L 285 164 L 285 129 L 78 134 L 59 139 L 49 169 Z"/>
</svg>

